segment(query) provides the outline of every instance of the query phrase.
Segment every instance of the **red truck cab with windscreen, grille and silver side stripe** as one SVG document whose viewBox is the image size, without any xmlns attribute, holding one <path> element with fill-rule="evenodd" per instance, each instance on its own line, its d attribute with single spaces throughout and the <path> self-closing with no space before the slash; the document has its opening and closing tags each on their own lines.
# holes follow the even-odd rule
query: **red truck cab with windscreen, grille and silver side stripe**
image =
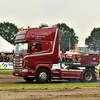
<svg viewBox="0 0 100 100">
<path fill-rule="evenodd" d="M 58 36 L 57 27 L 18 32 L 15 38 L 13 75 L 31 80 L 36 77 L 39 69 L 47 69 L 51 73 L 52 64 L 58 63 Z"/>
</svg>

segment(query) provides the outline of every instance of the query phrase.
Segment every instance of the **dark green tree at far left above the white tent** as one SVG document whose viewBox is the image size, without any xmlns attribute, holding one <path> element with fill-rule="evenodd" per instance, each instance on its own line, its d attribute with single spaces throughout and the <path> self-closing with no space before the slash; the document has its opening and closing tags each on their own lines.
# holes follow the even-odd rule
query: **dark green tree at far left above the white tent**
<svg viewBox="0 0 100 100">
<path fill-rule="evenodd" d="M 17 32 L 18 29 L 15 24 L 9 22 L 0 23 L 0 36 L 11 44 L 14 44 L 15 34 Z"/>
</svg>

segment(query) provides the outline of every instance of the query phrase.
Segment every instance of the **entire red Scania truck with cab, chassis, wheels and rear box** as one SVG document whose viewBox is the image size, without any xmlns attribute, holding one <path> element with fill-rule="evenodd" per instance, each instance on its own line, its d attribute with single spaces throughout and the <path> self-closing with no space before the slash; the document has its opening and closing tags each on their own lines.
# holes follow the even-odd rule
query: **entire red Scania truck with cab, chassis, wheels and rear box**
<svg viewBox="0 0 100 100">
<path fill-rule="evenodd" d="M 58 27 L 21 29 L 15 38 L 13 75 L 21 76 L 27 82 L 36 80 L 39 83 L 53 79 L 97 80 L 95 65 L 99 64 L 98 56 L 81 56 L 79 63 L 62 62 L 59 61 L 58 45 Z"/>
</svg>

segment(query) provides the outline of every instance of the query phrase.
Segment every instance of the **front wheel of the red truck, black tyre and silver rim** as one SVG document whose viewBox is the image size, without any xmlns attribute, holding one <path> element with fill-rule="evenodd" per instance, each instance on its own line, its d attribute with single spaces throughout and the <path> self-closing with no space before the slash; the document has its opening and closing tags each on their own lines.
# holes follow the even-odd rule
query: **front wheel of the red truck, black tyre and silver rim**
<svg viewBox="0 0 100 100">
<path fill-rule="evenodd" d="M 39 69 L 36 74 L 36 81 L 39 83 L 46 83 L 50 78 L 50 74 L 46 69 Z"/>
</svg>

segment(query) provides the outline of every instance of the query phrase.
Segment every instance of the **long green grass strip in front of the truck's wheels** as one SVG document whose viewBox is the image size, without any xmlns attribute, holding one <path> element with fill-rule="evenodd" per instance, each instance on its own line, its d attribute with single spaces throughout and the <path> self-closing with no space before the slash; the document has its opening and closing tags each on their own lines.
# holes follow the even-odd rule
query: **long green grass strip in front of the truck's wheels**
<svg viewBox="0 0 100 100">
<path fill-rule="evenodd" d="M 0 85 L 0 89 L 23 89 L 23 88 L 69 88 L 69 87 L 100 87 L 100 83 L 59 83 L 59 84 L 17 84 Z"/>
</svg>

